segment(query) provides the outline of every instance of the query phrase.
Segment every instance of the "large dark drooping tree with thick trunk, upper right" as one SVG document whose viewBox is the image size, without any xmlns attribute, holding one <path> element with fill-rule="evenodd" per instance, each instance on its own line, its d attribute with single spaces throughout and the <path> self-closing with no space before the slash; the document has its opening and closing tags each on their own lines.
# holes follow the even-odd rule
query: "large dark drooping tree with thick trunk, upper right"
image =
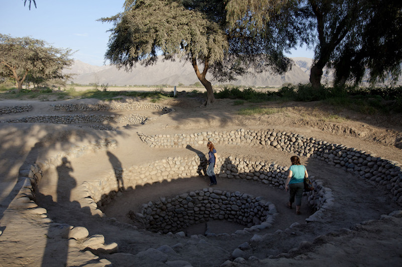
<svg viewBox="0 0 402 267">
<path fill-rule="evenodd" d="M 290 42 L 296 42 L 299 45 L 307 44 L 310 48 L 315 47 L 310 82 L 314 89 L 320 90 L 325 67 L 335 67 L 339 74 L 339 81 L 343 83 L 345 78 L 360 77 L 359 75 L 362 70 L 364 72 L 365 68 L 371 68 L 372 80 L 375 80 L 376 77 L 384 77 L 386 72 L 391 72 L 393 75 L 398 73 L 400 58 L 393 58 L 391 63 L 389 61 L 386 63 L 378 57 L 381 53 L 376 53 L 376 51 L 386 48 L 387 59 L 395 52 L 399 54 L 400 46 L 395 45 L 395 40 L 399 41 L 401 35 L 401 9 L 400 1 L 396 2 L 398 1 L 230 0 L 227 10 L 229 21 L 244 20 L 249 17 L 250 29 L 257 29 L 263 35 L 266 32 L 279 33 L 293 29 L 295 34 L 287 35 Z M 385 6 L 392 7 L 388 10 L 393 10 L 393 12 L 383 12 Z M 276 12 L 279 17 L 287 16 L 289 13 L 293 14 L 293 20 L 283 20 L 281 25 L 283 27 L 277 28 L 277 25 L 273 25 L 266 19 L 266 14 L 272 11 Z M 384 34 L 386 25 L 381 23 L 384 20 L 393 22 L 390 24 L 393 25 L 392 34 L 390 31 L 388 31 L 389 34 Z M 378 27 L 380 24 L 382 26 Z M 376 29 L 374 35 L 373 29 Z M 276 42 L 269 35 L 264 35 L 264 37 L 265 42 Z M 347 63 L 348 60 L 349 63 Z M 373 64 L 374 61 L 376 64 Z M 348 74 L 344 72 L 345 66 L 347 66 Z M 357 66 L 360 67 L 357 68 Z"/>
</svg>

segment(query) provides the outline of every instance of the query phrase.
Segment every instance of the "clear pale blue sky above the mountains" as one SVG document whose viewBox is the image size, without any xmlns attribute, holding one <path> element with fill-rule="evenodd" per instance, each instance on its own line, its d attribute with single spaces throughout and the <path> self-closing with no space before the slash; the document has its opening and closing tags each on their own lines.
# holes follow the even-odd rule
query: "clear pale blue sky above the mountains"
<svg viewBox="0 0 402 267">
<path fill-rule="evenodd" d="M 74 59 L 104 64 L 112 24 L 96 20 L 123 11 L 124 0 L 36 0 L 37 8 L 32 3 L 31 10 L 28 2 L 24 7 L 22 0 L 0 0 L 0 33 L 44 40 L 76 51 Z M 300 48 L 290 57 L 313 58 L 313 52 Z"/>
</svg>

